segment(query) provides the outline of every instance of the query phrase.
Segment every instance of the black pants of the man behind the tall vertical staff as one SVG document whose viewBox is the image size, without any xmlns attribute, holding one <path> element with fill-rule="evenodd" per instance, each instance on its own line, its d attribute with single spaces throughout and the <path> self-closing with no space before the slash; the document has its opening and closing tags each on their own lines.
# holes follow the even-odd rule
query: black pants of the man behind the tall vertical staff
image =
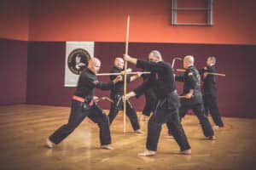
<svg viewBox="0 0 256 170">
<path fill-rule="evenodd" d="M 113 103 L 111 104 L 108 114 L 110 124 L 113 122 L 113 119 L 117 116 L 119 110 L 121 110 L 124 105 L 122 95 L 120 94 L 112 96 L 111 99 L 113 99 Z M 140 125 L 137 119 L 137 112 L 135 111 L 129 100 L 126 101 L 126 115 L 131 122 L 133 130 L 140 129 Z"/>
</svg>

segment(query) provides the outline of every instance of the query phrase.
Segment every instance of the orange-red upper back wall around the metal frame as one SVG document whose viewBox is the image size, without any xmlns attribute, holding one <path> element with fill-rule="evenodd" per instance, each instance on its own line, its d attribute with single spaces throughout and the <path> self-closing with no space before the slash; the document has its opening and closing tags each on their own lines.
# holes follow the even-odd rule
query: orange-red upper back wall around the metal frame
<svg viewBox="0 0 256 170">
<path fill-rule="evenodd" d="M 61 2 L 61 3 L 60 3 Z M 32 0 L 32 41 L 256 44 L 256 2 L 214 0 L 214 26 L 171 26 L 171 0 Z"/>
</svg>

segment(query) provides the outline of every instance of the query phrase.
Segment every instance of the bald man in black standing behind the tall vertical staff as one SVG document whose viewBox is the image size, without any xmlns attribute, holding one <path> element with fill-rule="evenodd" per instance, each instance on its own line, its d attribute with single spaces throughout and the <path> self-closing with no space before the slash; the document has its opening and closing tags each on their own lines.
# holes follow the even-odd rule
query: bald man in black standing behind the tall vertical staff
<svg viewBox="0 0 256 170">
<path fill-rule="evenodd" d="M 113 68 L 111 73 L 119 73 L 124 71 L 124 59 L 116 58 L 113 62 Z M 131 71 L 131 69 L 127 69 Z M 117 76 L 110 76 L 110 80 L 114 80 Z M 127 82 L 132 82 L 137 79 L 138 75 L 127 75 Z M 124 81 L 117 82 L 113 88 L 111 88 L 110 98 L 113 100 L 113 103 L 110 105 L 110 111 L 108 114 L 110 124 L 113 122 L 113 119 L 117 116 L 120 109 L 122 109 L 124 103 L 122 96 L 124 94 Z M 134 133 L 143 133 L 140 129 L 140 125 L 137 118 L 137 112 L 135 111 L 131 101 L 126 101 L 126 115 L 129 117 L 131 126 L 134 130 Z"/>
</svg>

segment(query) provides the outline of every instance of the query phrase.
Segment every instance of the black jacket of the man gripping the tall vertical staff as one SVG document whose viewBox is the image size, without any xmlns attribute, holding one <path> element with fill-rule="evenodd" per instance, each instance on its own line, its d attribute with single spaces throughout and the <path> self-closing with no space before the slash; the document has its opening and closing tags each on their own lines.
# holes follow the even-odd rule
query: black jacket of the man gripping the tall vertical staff
<svg viewBox="0 0 256 170">
<path fill-rule="evenodd" d="M 172 67 L 164 61 L 151 62 L 137 59 L 137 68 L 151 71 L 148 81 L 134 90 L 137 97 L 144 94 L 148 88 L 153 88 L 158 100 L 167 101 L 168 108 L 179 106 L 177 99 L 176 86 L 173 77 Z"/>
</svg>

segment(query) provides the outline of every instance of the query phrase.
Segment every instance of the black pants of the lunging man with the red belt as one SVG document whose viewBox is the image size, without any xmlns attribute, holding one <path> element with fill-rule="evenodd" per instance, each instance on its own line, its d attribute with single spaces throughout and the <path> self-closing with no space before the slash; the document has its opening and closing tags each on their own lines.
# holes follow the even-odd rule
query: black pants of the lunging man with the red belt
<svg viewBox="0 0 256 170">
<path fill-rule="evenodd" d="M 53 143 L 59 144 L 79 126 L 80 122 L 82 122 L 86 116 L 88 116 L 93 122 L 97 123 L 98 127 L 100 127 L 101 144 L 111 144 L 108 116 L 95 104 L 92 105 L 89 110 L 83 111 L 82 104 L 83 103 L 79 101 L 72 100 L 71 113 L 67 124 L 59 127 L 55 133 L 49 136 L 49 139 Z"/>
</svg>

